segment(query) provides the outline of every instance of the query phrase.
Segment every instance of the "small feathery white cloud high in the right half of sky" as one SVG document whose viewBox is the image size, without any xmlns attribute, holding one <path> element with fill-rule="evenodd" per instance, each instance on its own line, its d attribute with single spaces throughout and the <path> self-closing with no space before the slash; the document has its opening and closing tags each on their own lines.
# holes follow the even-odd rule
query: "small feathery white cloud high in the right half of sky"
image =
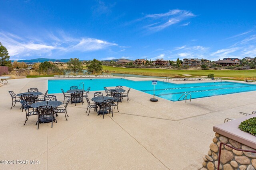
<svg viewBox="0 0 256 170">
<path fill-rule="evenodd" d="M 146 14 L 146 16 L 137 21 L 148 21 L 149 24 L 144 26 L 144 28 L 156 32 L 193 17 L 196 17 L 196 15 L 190 11 L 176 9 L 161 14 Z M 182 23 L 181 26 L 186 26 L 189 23 Z"/>
</svg>

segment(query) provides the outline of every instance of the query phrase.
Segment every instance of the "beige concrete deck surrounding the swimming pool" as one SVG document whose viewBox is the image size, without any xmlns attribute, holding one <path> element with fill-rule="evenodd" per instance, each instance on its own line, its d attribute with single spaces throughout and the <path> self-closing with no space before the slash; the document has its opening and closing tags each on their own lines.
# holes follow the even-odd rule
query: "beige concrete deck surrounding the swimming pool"
<svg viewBox="0 0 256 170">
<path fill-rule="evenodd" d="M 225 118 L 244 117 L 238 112 L 256 110 L 256 91 L 185 103 L 162 98 L 150 102 L 152 95 L 132 89 L 129 103 L 124 99 L 114 117 L 103 119 L 93 110 L 87 116 L 86 103 L 72 104 L 68 121 L 60 114 L 53 128 L 40 124 L 37 130 L 37 116 L 29 117 L 24 126 L 25 112 L 18 103 L 10 110 L 8 91 L 18 94 L 36 87 L 44 93 L 48 79 L 53 78 L 8 80 L 0 87 L 0 160 L 15 160 L 15 164 L 0 164 L 0 169 L 198 170 L 212 143 L 213 126 Z M 63 94 L 55 95 L 63 101 Z M 16 160 L 39 160 L 40 164 L 16 164 Z"/>
</svg>

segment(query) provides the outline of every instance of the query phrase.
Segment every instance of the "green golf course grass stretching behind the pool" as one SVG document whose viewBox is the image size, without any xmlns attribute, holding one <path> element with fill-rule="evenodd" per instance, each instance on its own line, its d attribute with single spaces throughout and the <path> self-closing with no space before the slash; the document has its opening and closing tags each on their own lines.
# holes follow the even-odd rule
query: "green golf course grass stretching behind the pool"
<svg viewBox="0 0 256 170">
<path fill-rule="evenodd" d="M 103 70 L 111 73 L 139 74 L 147 76 L 174 77 L 182 74 L 191 74 L 192 76 L 207 76 L 212 73 L 215 77 L 233 77 L 243 79 L 246 77 L 256 77 L 256 70 L 169 70 L 160 68 L 123 68 L 103 66 Z"/>
</svg>

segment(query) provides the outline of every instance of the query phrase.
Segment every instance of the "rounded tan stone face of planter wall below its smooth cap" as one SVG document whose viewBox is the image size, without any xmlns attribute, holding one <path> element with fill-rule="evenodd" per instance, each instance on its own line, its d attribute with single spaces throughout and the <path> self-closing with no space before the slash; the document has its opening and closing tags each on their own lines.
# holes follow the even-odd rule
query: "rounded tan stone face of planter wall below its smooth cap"
<svg viewBox="0 0 256 170">
<path fill-rule="evenodd" d="M 216 170 L 218 167 L 218 154 L 220 142 L 231 145 L 237 149 L 254 150 L 246 145 L 238 143 L 232 139 L 224 137 L 218 133 L 210 145 L 208 155 L 204 156 L 203 166 L 208 170 Z M 256 169 L 256 153 L 242 152 L 234 150 L 230 147 L 222 145 L 220 156 L 220 169 L 224 170 L 255 170 Z"/>
</svg>

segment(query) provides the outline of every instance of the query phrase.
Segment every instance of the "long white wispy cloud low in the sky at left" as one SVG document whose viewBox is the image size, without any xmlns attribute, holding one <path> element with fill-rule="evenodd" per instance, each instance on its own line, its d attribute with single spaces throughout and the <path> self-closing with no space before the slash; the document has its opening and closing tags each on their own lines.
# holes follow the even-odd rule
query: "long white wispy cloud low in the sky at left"
<svg viewBox="0 0 256 170">
<path fill-rule="evenodd" d="M 73 38 L 64 33 L 58 35 L 49 33 L 44 38 L 28 39 L 8 32 L 0 32 L 0 42 L 8 49 L 12 59 L 22 59 L 23 56 L 31 55 L 50 56 L 53 52 L 98 51 L 107 47 L 118 46 L 116 43 L 95 38 Z"/>
</svg>

